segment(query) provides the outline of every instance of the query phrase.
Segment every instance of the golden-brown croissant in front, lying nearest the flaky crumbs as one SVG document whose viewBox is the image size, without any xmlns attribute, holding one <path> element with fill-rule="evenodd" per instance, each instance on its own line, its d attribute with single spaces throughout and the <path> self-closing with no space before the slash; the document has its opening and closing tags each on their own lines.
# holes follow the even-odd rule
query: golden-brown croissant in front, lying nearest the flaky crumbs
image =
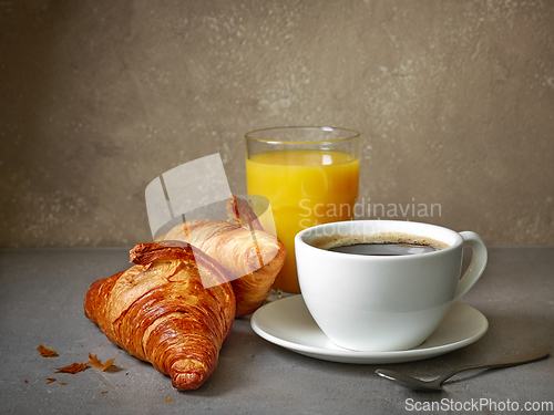
<svg viewBox="0 0 554 415">
<path fill-rule="evenodd" d="M 235 319 L 225 271 L 183 242 L 137 245 L 131 261 L 135 266 L 89 288 L 85 315 L 110 341 L 170 375 L 177 390 L 198 388 Z M 199 271 L 213 287 L 204 288 Z"/>
</svg>

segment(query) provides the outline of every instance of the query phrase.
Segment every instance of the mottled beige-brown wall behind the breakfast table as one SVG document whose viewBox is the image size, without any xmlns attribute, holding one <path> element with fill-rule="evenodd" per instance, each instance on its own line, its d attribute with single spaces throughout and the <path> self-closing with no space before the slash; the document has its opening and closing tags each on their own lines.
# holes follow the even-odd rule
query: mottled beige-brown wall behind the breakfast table
<svg viewBox="0 0 554 415">
<path fill-rule="evenodd" d="M 244 133 L 314 124 L 366 204 L 554 245 L 553 116 L 552 1 L 2 0 L 0 246 L 147 241 L 153 178 L 218 152 L 245 193 Z"/>
</svg>

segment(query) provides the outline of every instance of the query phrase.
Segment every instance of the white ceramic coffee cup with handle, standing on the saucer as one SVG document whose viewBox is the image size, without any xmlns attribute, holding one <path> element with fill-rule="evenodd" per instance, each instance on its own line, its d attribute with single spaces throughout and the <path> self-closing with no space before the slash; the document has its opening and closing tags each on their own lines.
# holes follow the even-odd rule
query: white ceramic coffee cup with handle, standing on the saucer
<svg viewBox="0 0 554 415">
<path fill-rule="evenodd" d="M 316 247 L 321 241 L 352 236 L 363 241 L 389 232 L 432 239 L 447 248 L 420 255 L 361 256 Z M 473 256 L 460 279 L 464 245 Z M 478 281 L 488 259 L 486 247 L 474 232 L 397 220 L 319 225 L 300 231 L 295 249 L 301 294 L 319 328 L 341 347 L 375 352 L 423 343 L 450 305 Z"/>
</svg>

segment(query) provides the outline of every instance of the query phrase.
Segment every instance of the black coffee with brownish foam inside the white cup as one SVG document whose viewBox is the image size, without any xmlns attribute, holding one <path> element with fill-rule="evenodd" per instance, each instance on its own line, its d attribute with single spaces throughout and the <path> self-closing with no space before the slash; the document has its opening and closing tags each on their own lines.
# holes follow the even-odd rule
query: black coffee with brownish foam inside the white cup
<svg viewBox="0 0 554 415">
<path fill-rule="evenodd" d="M 448 248 L 449 245 L 403 232 L 372 235 L 332 235 L 317 238 L 311 245 L 335 252 L 363 256 L 422 255 Z"/>
</svg>

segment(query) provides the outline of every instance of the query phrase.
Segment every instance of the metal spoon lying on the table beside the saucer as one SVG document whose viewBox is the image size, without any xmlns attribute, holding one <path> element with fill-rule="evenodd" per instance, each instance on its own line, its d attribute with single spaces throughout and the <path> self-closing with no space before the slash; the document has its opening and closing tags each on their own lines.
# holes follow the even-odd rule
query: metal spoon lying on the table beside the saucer
<svg viewBox="0 0 554 415">
<path fill-rule="evenodd" d="M 516 365 L 522 364 L 522 363 L 540 361 L 542 359 L 546 359 L 547 356 L 548 356 L 548 351 L 546 349 L 530 349 L 525 352 L 521 352 L 521 353 L 514 354 L 513 356 L 510 356 L 506 359 L 501 359 L 499 361 L 456 369 L 456 370 L 445 374 L 444 376 L 435 378 L 434 381 L 420 381 L 419 378 L 403 375 L 401 373 L 397 373 L 394 371 L 389 371 L 389 370 L 384 370 L 384 369 L 378 369 L 376 371 L 376 373 L 379 376 L 388 378 L 389 381 L 392 381 L 398 385 L 409 387 L 411 390 L 441 391 L 442 390 L 441 384 L 444 381 L 447 381 L 448 378 L 450 378 L 453 375 L 455 375 L 460 372 L 463 372 L 463 371 L 469 371 L 472 369 L 492 369 L 492 367 L 516 366 Z"/>
</svg>

